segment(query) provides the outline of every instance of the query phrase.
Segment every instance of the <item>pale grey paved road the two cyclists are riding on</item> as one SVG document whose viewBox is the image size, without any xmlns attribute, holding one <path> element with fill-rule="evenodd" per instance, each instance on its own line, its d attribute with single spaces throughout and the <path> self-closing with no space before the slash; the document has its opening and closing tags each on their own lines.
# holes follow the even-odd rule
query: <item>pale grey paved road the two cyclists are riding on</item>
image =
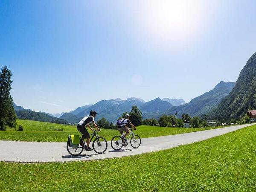
<svg viewBox="0 0 256 192">
<path fill-rule="evenodd" d="M 254 124 L 250 124 L 254 125 Z M 162 137 L 151 137 L 142 139 L 140 148 L 133 149 L 131 145 L 124 147 L 121 151 L 114 151 L 108 142 L 108 149 L 104 154 L 96 154 L 94 151 L 83 151 L 79 157 L 71 156 L 66 149 L 67 143 L 41 143 L 0 141 L 0 161 L 39 163 L 39 162 L 65 162 L 81 160 L 99 160 L 114 157 L 143 154 L 152 151 L 160 151 L 179 145 L 195 143 L 226 134 L 250 125 L 237 125 L 226 128 L 218 128 L 207 131 L 197 131 L 186 134 L 169 135 Z"/>
</svg>

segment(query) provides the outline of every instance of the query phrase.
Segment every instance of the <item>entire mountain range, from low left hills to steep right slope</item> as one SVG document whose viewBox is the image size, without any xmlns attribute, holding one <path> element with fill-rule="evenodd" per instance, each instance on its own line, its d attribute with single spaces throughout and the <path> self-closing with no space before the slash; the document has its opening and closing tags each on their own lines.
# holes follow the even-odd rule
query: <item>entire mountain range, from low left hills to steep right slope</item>
<svg viewBox="0 0 256 192">
<path fill-rule="evenodd" d="M 133 105 L 137 105 L 142 111 L 143 119 L 158 119 L 163 114 L 174 115 L 176 111 L 179 117 L 183 113 L 188 113 L 190 116 L 204 116 L 207 119 L 240 118 L 247 110 L 256 109 L 256 53 L 249 58 L 236 83 L 221 81 L 212 90 L 192 99 L 189 103 L 185 103 L 183 99 L 159 97 L 145 102 L 143 99 L 131 97 L 126 100 L 102 100 L 94 105 L 85 105 L 61 114 L 33 112 L 15 103 L 14 108 L 18 118 L 42 119 L 43 114 L 43 119 L 47 121 L 55 121 L 58 119 L 56 117 L 59 117 L 61 122 L 76 123 L 91 110 L 97 111 L 96 120 L 105 117 L 108 121 L 115 122 L 122 113 L 129 112 Z"/>
</svg>

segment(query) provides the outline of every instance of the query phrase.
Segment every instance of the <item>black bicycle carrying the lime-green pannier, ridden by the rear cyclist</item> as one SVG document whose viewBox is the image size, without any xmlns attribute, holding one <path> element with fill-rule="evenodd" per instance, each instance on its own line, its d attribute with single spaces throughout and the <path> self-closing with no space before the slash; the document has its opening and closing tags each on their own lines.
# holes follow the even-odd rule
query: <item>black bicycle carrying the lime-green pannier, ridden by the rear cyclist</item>
<svg viewBox="0 0 256 192">
<path fill-rule="evenodd" d="M 94 137 L 96 137 L 95 140 L 93 140 L 93 150 L 98 154 L 102 154 L 107 150 L 108 142 L 105 140 L 105 138 L 98 136 L 96 131 L 96 129 L 93 129 L 93 134 L 90 134 L 93 135 L 93 137 L 91 137 L 91 141 Z M 80 138 L 80 143 L 75 147 L 70 145 L 69 140 L 67 141 L 67 151 L 73 156 L 80 155 L 84 151 L 85 147 L 86 145 L 83 136 Z"/>
</svg>

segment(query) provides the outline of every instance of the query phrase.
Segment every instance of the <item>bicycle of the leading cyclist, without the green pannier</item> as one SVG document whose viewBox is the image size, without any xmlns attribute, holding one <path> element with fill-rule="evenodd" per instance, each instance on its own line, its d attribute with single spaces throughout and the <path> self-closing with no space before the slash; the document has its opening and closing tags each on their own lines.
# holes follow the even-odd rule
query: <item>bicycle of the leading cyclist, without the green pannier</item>
<svg viewBox="0 0 256 192">
<path fill-rule="evenodd" d="M 131 143 L 131 146 L 133 148 L 138 148 L 140 147 L 140 144 L 141 144 L 141 139 L 140 139 L 140 136 L 139 135 L 135 135 L 134 134 L 134 131 L 135 130 L 134 128 L 130 128 L 130 134 L 129 136 L 127 137 L 127 140 L 130 139 L 131 137 L 131 140 L 130 140 L 130 143 Z M 122 134 L 124 135 L 124 134 Z M 128 145 L 128 141 L 125 141 L 122 137 L 120 137 L 119 135 L 116 135 L 115 137 L 112 138 L 111 140 L 111 147 L 114 149 L 114 150 L 120 150 L 123 146 L 127 146 Z"/>
</svg>

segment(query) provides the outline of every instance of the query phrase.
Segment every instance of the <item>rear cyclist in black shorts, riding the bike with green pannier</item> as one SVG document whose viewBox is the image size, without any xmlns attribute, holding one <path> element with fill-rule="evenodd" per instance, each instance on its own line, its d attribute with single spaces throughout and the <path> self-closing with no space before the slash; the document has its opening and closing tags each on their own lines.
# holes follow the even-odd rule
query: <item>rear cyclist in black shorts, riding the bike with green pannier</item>
<svg viewBox="0 0 256 192">
<path fill-rule="evenodd" d="M 88 128 L 90 128 L 90 130 L 93 131 L 93 129 L 90 127 L 90 123 L 93 123 L 94 127 L 97 128 L 98 131 L 100 131 L 100 129 L 98 128 L 98 126 L 96 125 L 94 118 L 96 116 L 96 111 L 90 111 L 90 116 L 85 116 L 78 124 L 77 124 L 77 130 L 79 132 L 81 132 L 81 134 L 83 135 L 83 137 L 86 139 L 86 146 L 85 146 L 85 150 L 86 151 L 92 151 L 93 149 L 89 147 L 90 145 L 90 134 L 88 133 L 87 129 L 85 128 L 86 126 Z"/>
</svg>

